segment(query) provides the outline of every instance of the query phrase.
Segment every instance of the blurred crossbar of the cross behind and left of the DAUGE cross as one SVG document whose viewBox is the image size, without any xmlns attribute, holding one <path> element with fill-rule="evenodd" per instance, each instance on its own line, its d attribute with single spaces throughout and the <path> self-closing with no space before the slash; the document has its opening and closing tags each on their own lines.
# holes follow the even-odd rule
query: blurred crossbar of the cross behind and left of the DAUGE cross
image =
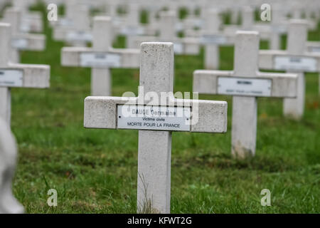
<svg viewBox="0 0 320 228">
<path fill-rule="evenodd" d="M 110 51 L 97 52 L 92 48 L 65 47 L 62 49 L 61 53 L 62 66 L 84 66 L 82 63 L 84 61 L 83 58 L 85 58 L 85 55 L 92 55 L 92 58 L 95 58 L 95 55 L 105 55 L 106 58 L 108 55 L 110 55 L 116 58 L 117 61 L 117 63 L 114 63 L 114 66 L 108 66 L 110 68 L 139 68 L 139 49 L 110 48 Z M 99 68 L 99 66 L 95 67 Z M 102 66 L 101 68 L 105 68 L 105 66 Z"/>
</svg>

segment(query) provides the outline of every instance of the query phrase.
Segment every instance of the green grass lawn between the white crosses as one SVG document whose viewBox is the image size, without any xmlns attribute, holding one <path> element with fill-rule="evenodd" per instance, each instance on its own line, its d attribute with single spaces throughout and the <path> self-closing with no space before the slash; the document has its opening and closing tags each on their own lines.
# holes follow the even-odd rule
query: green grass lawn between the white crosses
<svg viewBox="0 0 320 228">
<path fill-rule="evenodd" d="M 44 11 L 43 6 L 35 9 Z M 45 17 L 46 18 L 46 17 Z M 320 40 L 319 31 L 310 33 Z M 12 90 L 12 130 L 18 140 L 14 195 L 27 213 L 134 213 L 137 195 L 137 130 L 83 128 L 83 100 L 90 95 L 90 69 L 60 66 L 64 43 L 22 53 L 23 63 L 50 64 L 50 89 Z M 123 46 L 120 38 L 114 46 Z M 262 46 L 266 46 L 262 42 Z M 233 68 L 233 48 L 220 48 L 223 70 Z M 176 56 L 175 91 L 191 91 L 199 56 Z M 139 70 L 112 70 L 112 94 L 137 94 Z M 251 160 L 230 156 L 232 99 L 228 133 L 174 133 L 171 161 L 173 213 L 319 213 L 320 98 L 317 74 L 306 75 L 303 120 L 282 117 L 282 100 L 258 99 L 257 152 Z M 58 190 L 58 207 L 46 204 Z M 260 204 L 262 189 L 272 206 Z"/>
</svg>

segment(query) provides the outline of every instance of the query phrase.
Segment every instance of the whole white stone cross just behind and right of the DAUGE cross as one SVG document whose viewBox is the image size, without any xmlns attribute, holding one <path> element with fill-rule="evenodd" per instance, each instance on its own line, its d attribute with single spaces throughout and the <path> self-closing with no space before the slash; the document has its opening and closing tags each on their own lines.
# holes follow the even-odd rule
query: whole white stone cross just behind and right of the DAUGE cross
<svg viewBox="0 0 320 228">
<path fill-rule="evenodd" d="M 294 98 L 297 75 L 258 71 L 259 33 L 238 31 L 233 71 L 195 71 L 193 92 L 233 95 L 232 154 L 255 155 L 257 97 Z"/>
</svg>

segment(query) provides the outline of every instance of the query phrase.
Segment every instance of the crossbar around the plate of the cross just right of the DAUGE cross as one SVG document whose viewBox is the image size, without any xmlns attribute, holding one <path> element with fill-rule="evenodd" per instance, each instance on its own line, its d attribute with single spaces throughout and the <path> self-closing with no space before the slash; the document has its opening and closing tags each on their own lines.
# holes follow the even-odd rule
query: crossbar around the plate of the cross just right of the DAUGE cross
<svg viewBox="0 0 320 228">
<path fill-rule="evenodd" d="M 219 77 L 254 79 L 252 77 L 235 76 L 234 71 L 198 70 L 193 73 L 193 91 L 203 94 L 219 94 Z M 270 97 L 294 98 L 297 96 L 297 75 L 294 73 L 257 72 L 255 79 L 269 79 L 272 81 Z M 255 96 L 259 97 L 260 95 Z"/>
</svg>

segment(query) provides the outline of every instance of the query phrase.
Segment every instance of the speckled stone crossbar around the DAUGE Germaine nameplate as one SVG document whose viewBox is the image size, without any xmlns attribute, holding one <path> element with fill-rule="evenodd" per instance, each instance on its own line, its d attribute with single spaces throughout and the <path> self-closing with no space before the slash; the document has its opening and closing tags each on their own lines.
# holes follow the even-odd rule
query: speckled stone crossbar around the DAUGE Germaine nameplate
<svg viewBox="0 0 320 228">
<path fill-rule="evenodd" d="M 117 105 L 139 105 L 138 100 L 139 98 L 125 97 L 85 98 L 85 128 L 117 129 Z M 225 133 L 227 131 L 228 104 L 226 102 L 174 99 L 172 107 L 177 106 L 191 107 L 191 118 L 198 115 L 198 121 L 194 125 L 191 124 L 190 132 Z"/>
</svg>

